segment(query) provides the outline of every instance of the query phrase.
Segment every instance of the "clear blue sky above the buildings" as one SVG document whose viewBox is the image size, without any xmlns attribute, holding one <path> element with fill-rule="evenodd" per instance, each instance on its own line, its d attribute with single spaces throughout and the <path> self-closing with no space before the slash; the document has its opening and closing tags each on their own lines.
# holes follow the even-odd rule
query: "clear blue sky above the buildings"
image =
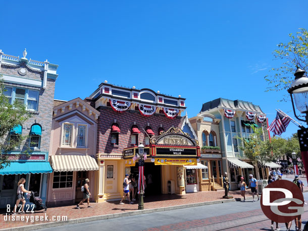
<svg viewBox="0 0 308 231">
<path fill-rule="evenodd" d="M 286 92 L 265 92 L 272 51 L 308 28 L 307 1 L 5 1 L 0 49 L 58 64 L 56 99 L 101 83 L 185 97 L 189 117 L 219 97 L 293 115 Z M 292 77 L 293 78 L 293 77 Z M 290 124 L 287 137 L 297 127 Z"/>
</svg>

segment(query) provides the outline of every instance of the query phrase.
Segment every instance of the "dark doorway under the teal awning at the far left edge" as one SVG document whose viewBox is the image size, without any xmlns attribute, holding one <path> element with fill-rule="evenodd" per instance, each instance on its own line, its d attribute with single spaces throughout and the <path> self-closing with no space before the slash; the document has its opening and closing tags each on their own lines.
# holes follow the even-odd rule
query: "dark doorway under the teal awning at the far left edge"
<svg viewBox="0 0 308 231">
<path fill-rule="evenodd" d="M 14 206 L 17 192 L 17 176 L 0 176 L 0 208 L 6 208 L 8 204 Z"/>
</svg>

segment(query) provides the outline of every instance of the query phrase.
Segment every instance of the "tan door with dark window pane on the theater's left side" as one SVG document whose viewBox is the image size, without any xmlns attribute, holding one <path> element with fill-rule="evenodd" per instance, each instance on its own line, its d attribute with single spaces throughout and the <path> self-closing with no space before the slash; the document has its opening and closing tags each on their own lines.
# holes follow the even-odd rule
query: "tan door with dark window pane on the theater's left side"
<svg viewBox="0 0 308 231">
<path fill-rule="evenodd" d="M 106 176 L 105 193 L 116 193 L 117 192 L 117 161 L 106 161 L 105 176 Z"/>
</svg>

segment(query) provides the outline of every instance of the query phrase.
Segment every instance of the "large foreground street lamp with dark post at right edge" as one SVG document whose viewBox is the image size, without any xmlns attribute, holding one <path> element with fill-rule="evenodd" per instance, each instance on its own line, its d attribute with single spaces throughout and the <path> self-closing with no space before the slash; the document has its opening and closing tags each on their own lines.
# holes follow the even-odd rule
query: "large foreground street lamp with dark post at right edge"
<svg viewBox="0 0 308 231">
<path fill-rule="evenodd" d="M 308 125 L 308 78 L 305 75 L 305 71 L 301 70 L 298 67 L 294 76 L 295 79 L 291 87 L 288 89 L 288 92 L 291 96 L 293 112 L 297 120 L 305 122 Z M 300 119 L 296 115 L 293 96 L 296 108 L 300 111 L 300 113 L 305 114 L 305 120 Z M 300 129 L 297 130 L 297 134 L 299 140 L 301 159 L 304 168 L 308 169 L 308 129 L 303 126 L 299 127 Z M 297 160 L 296 160 L 296 166 L 297 166 Z M 296 171 L 296 174 L 298 174 L 298 171 Z"/>
</svg>

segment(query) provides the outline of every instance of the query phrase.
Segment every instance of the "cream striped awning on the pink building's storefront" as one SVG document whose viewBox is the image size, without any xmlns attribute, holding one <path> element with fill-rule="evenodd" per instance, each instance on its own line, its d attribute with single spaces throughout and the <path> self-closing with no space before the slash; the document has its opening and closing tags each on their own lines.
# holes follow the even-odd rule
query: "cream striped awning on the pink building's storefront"
<svg viewBox="0 0 308 231">
<path fill-rule="evenodd" d="M 51 164 L 54 171 L 95 171 L 96 160 L 89 155 L 53 155 Z"/>
</svg>

